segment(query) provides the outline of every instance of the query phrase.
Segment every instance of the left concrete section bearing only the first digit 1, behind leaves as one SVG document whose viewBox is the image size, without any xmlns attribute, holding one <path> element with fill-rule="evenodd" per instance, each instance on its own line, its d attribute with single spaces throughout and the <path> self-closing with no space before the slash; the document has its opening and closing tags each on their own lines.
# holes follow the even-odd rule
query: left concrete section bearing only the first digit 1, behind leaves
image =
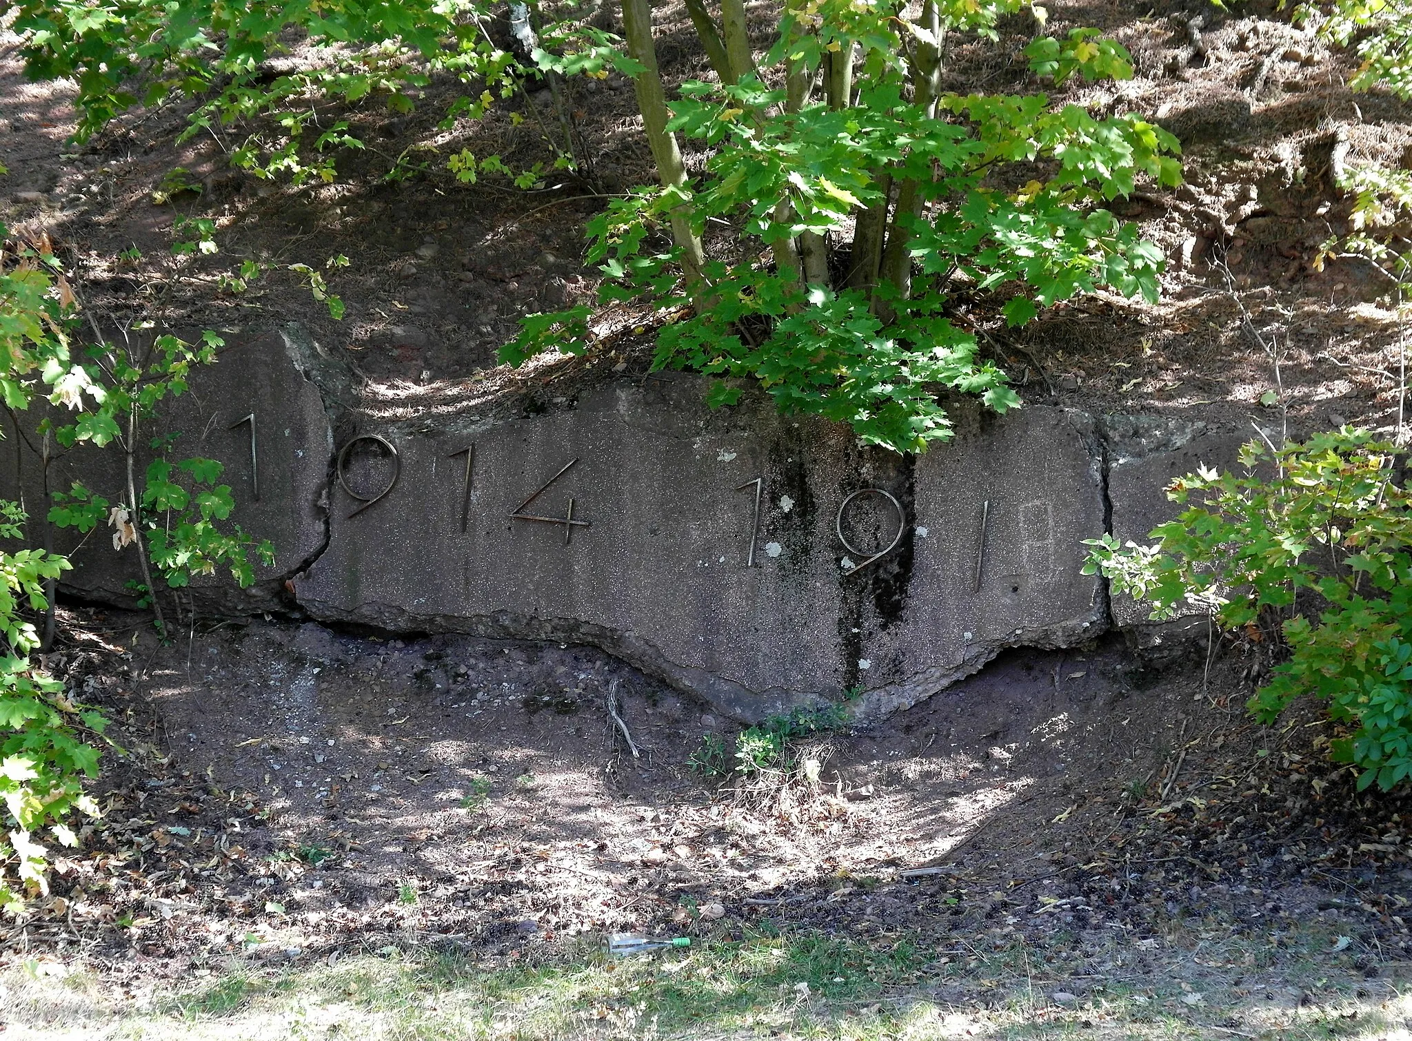
<svg viewBox="0 0 1412 1041">
<path fill-rule="evenodd" d="M 154 432 L 178 433 L 168 458 L 191 456 L 216 458 L 225 464 L 222 482 L 229 484 L 236 499 L 230 523 L 240 525 L 258 539 L 275 546 L 273 567 L 256 568 L 257 584 L 246 591 L 234 588 L 229 573 L 198 578 L 193 592 L 205 609 L 247 611 L 268 608 L 282 594 L 282 580 L 301 570 L 322 550 L 326 537 L 325 497 L 333 433 L 318 388 L 295 365 L 297 353 L 278 333 L 256 336 L 229 334 L 227 346 L 215 365 L 192 371 L 189 391 L 162 402 L 160 415 L 138 433 L 136 481 L 141 494 L 143 475 L 152 458 Z M 23 436 L 8 447 L 23 474 L 23 494 L 31 513 L 32 543 L 44 508 L 42 440 L 34 433 L 38 422 L 52 409 L 35 402 L 21 419 Z M 56 409 L 55 422 L 69 422 Z M 256 461 L 258 492 L 250 456 L 250 425 L 232 429 L 244 416 L 256 416 Z M 16 461 L 0 465 L 0 495 L 14 498 Z M 68 491 L 75 481 L 109 502 L 127 499 L 127 467 L 119 446 L 103 449 L 80 444 L 72 450 L 54 446 L 49 464 L 49 488 Z M 102 528 L 88 537 L 75 530 L 55 529 L 54 549 L 69 553 L 73 570 L 61 583 L 78 597 L 103 602 L 131 604 L 128 583 L 141 580 L 137 554 L 131 546 L 113 549 L 112 529 Z M 157 576 L 158 588 L 165 583 Z"/>
</svg>

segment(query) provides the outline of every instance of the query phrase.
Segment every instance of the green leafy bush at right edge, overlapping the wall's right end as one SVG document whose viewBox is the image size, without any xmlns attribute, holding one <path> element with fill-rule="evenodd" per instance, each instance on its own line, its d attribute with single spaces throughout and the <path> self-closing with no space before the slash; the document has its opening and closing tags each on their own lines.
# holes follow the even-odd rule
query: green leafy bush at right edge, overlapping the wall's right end
<svg viewBox="0 0 1412 1041">
<path fill-rule="evenodd" d="M 1084 574 L 1226 629 L 1275 623 L 1288 657 L 1250 700 L 1271 724 L 1300 695 L 1348 735 L 1333 756 L 1358 787 L 1412 777 L 1412 494 L 1394 482 L 1396 449 L 1344 427 L 1272 451 L 1241 451 L 1244 475 L 1200 470 L 1168 489 L 1190 504 L 1151 546 L 1090 539 Z M 1264 473 L 1257 473 L 1260 468 Z"/>
</svg>

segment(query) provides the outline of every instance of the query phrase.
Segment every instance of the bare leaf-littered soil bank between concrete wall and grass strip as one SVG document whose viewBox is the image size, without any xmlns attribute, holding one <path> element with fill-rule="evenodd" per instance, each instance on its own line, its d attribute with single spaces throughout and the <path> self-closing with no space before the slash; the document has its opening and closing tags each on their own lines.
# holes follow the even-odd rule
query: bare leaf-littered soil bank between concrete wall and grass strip
<svg viewBox="0 0 1412 1041">
<path fill-rule="evenodd" d="M 789 770 L 722 781 L 688 760 L 738 728 L 587 647 L 280 621 L 161 646 L 90 609 L 65 629 L 52 664 L 126 752 L 6 949 L 148 996 L 250 959 L 514 961 L 607 931 L 1025 941 L 1070 990 L 1152 968 L 1173 930 L 1254 945 L 1257 983 L 1310 930 L 1370 978 L 1412 958 L 1408 797 L 1357 794 L 1326 724 L 1248 722 L 1258 646 L 1213 645 L 1206 678 L 1204 647 L 1011 652 L 802 741 Z M 1197 959 L 1185 979 L 1233 970 Z"/>
</svg>

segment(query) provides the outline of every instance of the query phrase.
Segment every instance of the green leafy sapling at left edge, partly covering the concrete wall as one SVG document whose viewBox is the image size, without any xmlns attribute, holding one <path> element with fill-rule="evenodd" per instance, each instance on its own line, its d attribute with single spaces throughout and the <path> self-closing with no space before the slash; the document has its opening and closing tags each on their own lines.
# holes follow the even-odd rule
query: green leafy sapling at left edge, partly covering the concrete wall
<svg viewBox="0 0 1412 1041">
<path fill-rule="evenodd" d="M 268 560 L 271 547 L 256 546 L 239 528 L 219 525 L 233 506 L 230 488 L 216 484 L 220 464 L 158 458 L 141 487 L 131 470 L 143 422 L 158 402 L 186 389 L 192 365 L 215 361 L 219 337 L 208 333 L 188 344 L 160 336 L 147 351 L 75 344 L 76 300 L 49 241 L 41 236 L 11 244 L 8 238 L 8 229 L 0 226 L 0 243 L 13 245 L 0 250 L 0 398 L 11 410 L 28 409 L 37 398 L 64 406 L 66 415 L 52 408 L 37 425 L 47 442 L 65 449 L 116 443 L 128 461 L 120 502 L 75 485 L 55 494 L 44 523 L 82 530 L 107 523 L 114 550 L 136 543 L 144 573 L 148 563 L 155 564 L 171 587 L 215 571 L 217 563 L 247 585 L 254 577 L 250 553 Z M 32 542 L 27 522 L 20 506 L 0 502 L 0 539 Z M 37 831 L 48 829 L 73 845 L 75 832 L 65 824 L 69 812 L 97 814 L 82 779 L 97 772 L 99 750 L 80 733 L 102 735 L 106 721 L 71 701 L 64 684 L 30 657 L 40 636 L 25 612 L 52 611 L 54 583 L 68 567 L 62 556 L 38 549 L 0 553 L 0 797 L 8 839 L 0 841 L 0 908 L 17 908 L 25 889 L 47 889 L 45 846 L 35 841 Z M 150 574 L 145 585 L 161 625 Z M 14 879 L 6 872 L 11 863 Z"/>
</svg>

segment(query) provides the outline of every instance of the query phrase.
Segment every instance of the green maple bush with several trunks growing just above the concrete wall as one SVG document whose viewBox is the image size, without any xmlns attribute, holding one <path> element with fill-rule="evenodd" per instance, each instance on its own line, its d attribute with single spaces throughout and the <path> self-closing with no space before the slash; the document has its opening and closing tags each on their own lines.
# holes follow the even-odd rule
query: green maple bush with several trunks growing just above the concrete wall
<svg viewBox="0 0 1412 1041">
<path fill-rule="evenodd" d="M 849 423 L 895 451 L 950 437 L 940 388 L 997 412 L 1018 405 L 974 331 L 953 322 L 962 298 L 1008 296 L 1012 326 L 1100 285 L 1155 299 L 1161 251 L 1104 203 L 1139 178 L 1180 182 L 1176 138 L 1137 116 L 939 90 L 942 37 L 994 37 L 995 17 L 1018 7 L 928 0 L 909 18 L 899 3 L 786 4 L 772 75 L 741 44 L 719 82 L 689 82 L 668 106 L 647 4 L 626 3 L 661 185 L 589 223 L 589 261 L 607 275 L 599 302 L 654 309 L 654 367 L 719 377 L 712 405 L 754 379 L 782 412 Z M 1025 55 L 1055 80 L 1132 75 L 1127 52 L 1091 30 L 1036 39 Z M 705 145 L 699 178 L 682 168 L 678 131 Z M 582 306 L 531 316 L 501 358 L 582 353 L 596 339 L 589 317 Z"/>
</svg>

